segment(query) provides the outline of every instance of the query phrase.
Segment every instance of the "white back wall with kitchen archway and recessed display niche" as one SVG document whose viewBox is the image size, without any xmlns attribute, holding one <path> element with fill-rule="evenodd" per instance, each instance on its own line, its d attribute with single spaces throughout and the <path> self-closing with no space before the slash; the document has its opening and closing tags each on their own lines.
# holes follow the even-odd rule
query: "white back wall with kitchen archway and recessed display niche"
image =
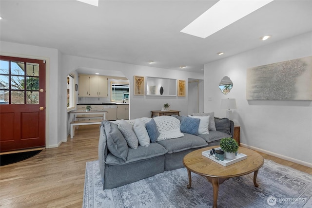
<svg viewBox="0 0 312 208">
<path fill-rule="evenodd" d="M 139 66 L 133 64 L 119 63 L 113 61 L 105 61 L 92 58 L 74 57 L 64 55 L 62 74 L 67 76 L 71 71 L 80 67 L 87 67 L 109 71 L 110 76 L 120 76 L 120 72 L 130 81 L 130 119 L 139 117 L 150 117 L 152 110 L 160 110 L 164 103 L 169 103 L 170 109 L 181 111 L 181 115 L 188 113 L 188 88 L 186 87 L 186 96 L 146 96 L 133 95 L 134 76 L 153 76 L 162 78 L 174 78 L 188 80 L 188 78 L 199 79 L 202 77 L 200 73 L 182 72 L 177 70 L 168 70 L 162 68 Z M 118 74 L 116 74 L 118 73 Z M 186 85 L 187 86 L 187 85 Z"/>
</svg>

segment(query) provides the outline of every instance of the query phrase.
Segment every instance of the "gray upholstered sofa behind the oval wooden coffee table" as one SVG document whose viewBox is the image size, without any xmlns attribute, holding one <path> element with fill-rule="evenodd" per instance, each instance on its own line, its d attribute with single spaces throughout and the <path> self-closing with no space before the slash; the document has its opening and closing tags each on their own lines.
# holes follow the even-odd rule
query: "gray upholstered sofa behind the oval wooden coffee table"
<svg viewBox="0 0 312 208">
<path fill-rule="evenodd" d="M 178 116 L 176 119 L 180 120 L 183 117 Z M 98 145 L 103 189 L 113 189 L 133 183 L 165 170 L 183 168 L 182 160 L 187 153 L 199 148 L 219 145 L 222 138 L 232 137 L 233 121 L 217 117 L 213 117 L 213 120 L 216 131 L 210 130 L 208 134 L 198 135 L 181 131 L 182 137 L 150 142 L 149 146 L 137 145 L 136 149 L 127 146 L 125 137 L 116 122 L 104 120 L 100 125 Z"/>
</svg>

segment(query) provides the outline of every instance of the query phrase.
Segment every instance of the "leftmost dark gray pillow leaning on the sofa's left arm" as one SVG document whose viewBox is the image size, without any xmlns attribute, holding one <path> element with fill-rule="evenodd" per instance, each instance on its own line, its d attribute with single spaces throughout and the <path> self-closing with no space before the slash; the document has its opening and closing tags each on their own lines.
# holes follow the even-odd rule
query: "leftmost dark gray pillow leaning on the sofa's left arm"
<svg viewBox="0 0 312 208">
<path fill-rule="evenodd" d="M 119 131 L 116 124 L 106 121 L 104 124 L 107 149 L 116 157 L 126 161 L 128 156 L 127 141 Z"/>
</svg>

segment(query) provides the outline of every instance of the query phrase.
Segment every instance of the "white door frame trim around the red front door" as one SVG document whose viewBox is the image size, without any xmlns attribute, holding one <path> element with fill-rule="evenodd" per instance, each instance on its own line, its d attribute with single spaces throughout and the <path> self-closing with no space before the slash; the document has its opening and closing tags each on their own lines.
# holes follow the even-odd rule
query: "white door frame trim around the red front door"
<svg viewBox="0 0 312 208">
<path fill-rule="evenodd" d="M 38 56 L 29 56 L 29 55 L 20 55 L 20 54 L 12 54 L 12 53 L 3 53 L 0 52 L 1 56 L 6 56 L 6 57 L 19 57 L 19 58 L 29 58 L 29 59 L 38 59 L 38 60 L 43 60 L 45 61 L 45 148 L 54 148 L 58 147 L 57 146 L 50 146 L 50 138 L 49 138 L 49 86 L 50 86 L 50 80 L 49 80 L 49 71 L 50 71 L 50 61 L 49 57 L 38 57 Z"/>
</svg>

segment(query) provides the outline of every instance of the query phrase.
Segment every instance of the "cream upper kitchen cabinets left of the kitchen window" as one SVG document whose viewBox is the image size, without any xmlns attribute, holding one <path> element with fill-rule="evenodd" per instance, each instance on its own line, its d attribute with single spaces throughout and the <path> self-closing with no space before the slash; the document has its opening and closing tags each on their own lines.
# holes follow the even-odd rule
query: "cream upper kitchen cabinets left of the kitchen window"
<svg viewBox="0 0 312 208">
<path fill-rule="evenodd" d="M 107 97 L 107 77 L 79 75 L 79 97 Z"/>
</svg>

